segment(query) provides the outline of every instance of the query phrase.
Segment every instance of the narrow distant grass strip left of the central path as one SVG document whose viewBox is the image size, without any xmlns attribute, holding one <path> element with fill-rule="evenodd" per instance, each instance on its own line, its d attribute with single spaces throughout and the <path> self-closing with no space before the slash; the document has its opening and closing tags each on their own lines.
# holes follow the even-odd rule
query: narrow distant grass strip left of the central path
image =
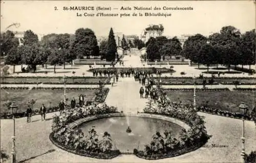
<svg viewBox="0 0 256 163">
<path fill-rule="evenodd" d="M 109 83 L 110 79 L 108 78 L 77 78 L 77 77 L 69 77 L 66 78 L 67 84 L 99 84 L 99 81 L 102 81 L 103 83 Z M 63 84 L 64 79 L 62 77 L 56 77 L 56 78 L 32 78 L 32 77 L 7 77 L 7 78 L 1 78 L 1 83 L 49 83 L 49 84 Z"/>
</svg>

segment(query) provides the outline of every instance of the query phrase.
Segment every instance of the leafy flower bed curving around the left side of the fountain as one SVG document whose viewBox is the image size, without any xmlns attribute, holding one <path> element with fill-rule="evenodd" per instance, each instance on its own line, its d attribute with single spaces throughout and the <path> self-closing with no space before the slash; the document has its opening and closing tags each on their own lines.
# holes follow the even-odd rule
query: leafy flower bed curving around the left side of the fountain
<svg viewBox="0 0 256 163">
<path fill-rule="evenodd" d="M 54 115 L 52 133 L 50 139 L 57 147 L 87 157 L 100 159 L 111 159 L 120 154 L 119 150 L 112 150 L 111 135 L 104 132 L 102 139 L 99 140 L 94 128 L 90 129 L 89 135 L 79 128 L 69 127 L 69 124 L 79 119 L 115 113 L 117 108 L 109 107 L 104 103 L 93 104 L 87 107 L 68 109 L 61 115 Z"/>
</svg>

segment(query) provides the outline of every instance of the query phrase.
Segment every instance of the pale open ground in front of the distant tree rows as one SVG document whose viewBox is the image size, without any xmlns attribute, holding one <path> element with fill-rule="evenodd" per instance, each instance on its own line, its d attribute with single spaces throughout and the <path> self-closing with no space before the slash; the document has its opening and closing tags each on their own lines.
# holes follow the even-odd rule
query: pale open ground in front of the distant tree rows
<svg viewBox="0 0 256 163">
<path fill-rule="evenodd" d="M 141 62 L 140 61 L 140 56 L 139 55 L 125 55 L 123 57 L 123 62 L 124 62 L 124 66 L 120 65 L 119 63 L 117 63 L 115 65 L 115 67 L 165 67 L 165 68 L 169 68 L 170 65 L 147 65 L 145 64 L 145 62 Z M 144 66 L 143 66 L 144 65 Z M 26 65 L 24 65 L 26 67 Z M 200 74 L 202 74 L 202 72 L 207 71 L 207 69 L 197 69 L 197 65 L 193 65 L 193 66 L 189 66 L 189 65 L 173 65 L 174 66 L 174 71 L 176 71 L 173 74 L 163 74 L 164 76 L 167 77 L 181 77 L 180 73 L 181 72 L 185 72 L 185 75 L 183 75 L 184 77 L 192 77 L 192 76 L 199 76 Z M 98 67 L 103 67 L 102 65 L 92 65 L 93 68 L 98 68 Z M 105 67 L 111 67 L 110 65 L 105 65 Z M 219 66 L 219 67 L 223 67 L 223 66 Z M 248 66 L 244 66 L 245 68 Z M 200 68 L 206 68 L 206 66 L 204 65 L 200 65 Z M 209 71 L 217 71 L 214 69 L 211 69 L 214 67 L 209 67 Z M 251 68 L 255 69 L 255 66 L 251 66 Z M 9 73 L 11 76 L 44 76 L 44 77 L 63 77 L 64 75 L 66 76 L 74 76 L 72 74 L 72 72 L 75 72 L 75 76 L 83 76 L 82 74 L 84 73 L 84 76 L 92 76 L 91 72 L 88 72 L 88 70 L 90 69 L 89 65 L 70 65 L 67 64 L 66 68 L 63 69 L 63 66 L 56 66 L 56 73 L 54 73 L 54 68 L 53 66 L 48 65 L 47 69 L 42 68 L 41 66 L 37 66 L 37 73 L 21 73 L 21 65 L 17 65 L 15 66 L 15 72 L 13 74 L 13 66 L 9 66 Z M 45 72 L 48 72 L 48 74 L 45 74 Z M 227 71 L 226 70 L 218 70 L 220 72 L 223 71 Z M 233 69 L 230 69 L 230 71 L 234 71 Z M 17 74 L 17 72 L 19 72 Z M 211 74 L 204 74 L 205 77 L 210 77 Z M 241 74 L 224 74 L 221 75 L 221 77 L 253 77 L 251 75 L 248 75 L 248 73 L 241 73 Z"/>
</svg>

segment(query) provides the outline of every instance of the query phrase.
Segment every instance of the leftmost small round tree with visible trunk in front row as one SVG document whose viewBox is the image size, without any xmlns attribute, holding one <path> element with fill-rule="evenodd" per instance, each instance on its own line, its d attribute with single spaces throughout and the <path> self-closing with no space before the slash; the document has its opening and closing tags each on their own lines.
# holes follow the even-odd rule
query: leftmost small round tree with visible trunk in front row
<svg viewBox="0 0 256 163">
<path fill-rule="evenodd" d="M 19 64 L 21 60 L 20 54 L 17 52 L 17 48 L 12 48 L 6 56 L 6 64 L 13 65 L 13 73 L 15 73 L 15 65 Z"/>
</svg>

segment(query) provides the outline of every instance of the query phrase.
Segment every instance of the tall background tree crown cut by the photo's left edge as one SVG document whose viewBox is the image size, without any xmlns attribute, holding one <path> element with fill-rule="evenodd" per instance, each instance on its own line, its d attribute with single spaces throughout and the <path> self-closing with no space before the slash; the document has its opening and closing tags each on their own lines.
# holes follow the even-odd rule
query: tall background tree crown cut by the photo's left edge
<svg viewBox="0 0 256 163">
<path fill-rule="evenodd" d="M 0 45 L 1 56 L 8 55 L 12 48 L 17 48 L 19 45 L 18 38 L 15 37 L 13 32 L 8 30 L 1 33 Z"/>
</svg>

